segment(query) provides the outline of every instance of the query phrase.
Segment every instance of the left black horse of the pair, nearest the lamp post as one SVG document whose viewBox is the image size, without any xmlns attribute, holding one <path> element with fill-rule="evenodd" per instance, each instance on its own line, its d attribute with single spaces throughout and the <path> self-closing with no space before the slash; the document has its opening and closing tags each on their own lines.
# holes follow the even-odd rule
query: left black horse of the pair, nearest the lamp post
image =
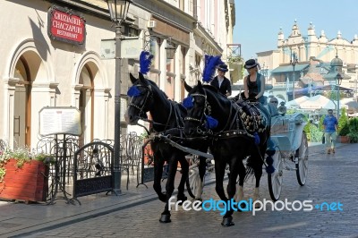
<svg viewBox="0 0 358 238">
<path fill-rule="evenodd" d="M 178 186 L 177 200 L 182 201 L 187 199 L 184 195 L 184 185 L 188 178 L 189 164 L 185 158 L 187 153 L 172 147 L 166 143 L 166 140 L 160 139 L 158 135 L 170 136 L 172 140 L 176 139 L 178 143 L 181 143 L 183 141 L 183 118 L 186 116 L 186 109 L 181 104 L 169 100 L 166 94 L 158 88 L 157 84 L 145 79 L 141 72 L 139 72 L 139 79 L 135 78 L 132 73 L 130 78 L 133 84 L 130 90 L 134 91 L 134 93 L 130 93 L 129 90 L 128 95 L 132 96 L 132 98 L 125 115 L 126 121 L 130 124 L 137 124 L 140 119 L 147 120 L 147 112 L 151 115 L 149 139 L 151 140 L 150 144 L 153 150 L 155 166 L 153 188 L 157 192 L 159 200 L 166 202 L 166 207 L 159 221 L 168 223 L 171 221 L 168 200 L 174 191 L 177 164 L 179 162 L 182 167 L 182 178 Z M 205 149 L 200 150 L 205 151 Z M 166 193 L 163 193 L 160 180 L 165 162 L 169 166 L 169 173 L 166 181 Z M 201 182 L 203 181 L 205 169 L 206 159 L 205 157 L 200 157 Z M 200 188 L 202 190 L 202 184 Z M 200 200 L 202 192 L 200 188 L 196 194 L 196 199 L 198 200 Z"/>
</svg>

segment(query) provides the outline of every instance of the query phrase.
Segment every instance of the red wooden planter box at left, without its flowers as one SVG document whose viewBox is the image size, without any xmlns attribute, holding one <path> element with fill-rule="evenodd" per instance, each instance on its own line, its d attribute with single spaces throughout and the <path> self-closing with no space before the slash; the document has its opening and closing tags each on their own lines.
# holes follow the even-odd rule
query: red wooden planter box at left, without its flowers
<svg viewBox="0 0 358 238">
<path fill-rule="evenodd" d="M 16 162 L 16 159 L 10 159 L 4 165 L 6 174 L 0 182 L 0 199 L 46 201 L 48 166 L 42 161 L 30 160 L 19 168 Z"/>
</svg>

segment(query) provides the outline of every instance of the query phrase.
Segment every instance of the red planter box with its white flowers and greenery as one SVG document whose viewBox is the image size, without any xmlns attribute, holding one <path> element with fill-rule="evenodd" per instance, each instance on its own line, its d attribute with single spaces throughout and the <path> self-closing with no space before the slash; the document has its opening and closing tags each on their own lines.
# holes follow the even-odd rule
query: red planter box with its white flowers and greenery
<svg viewBox="0 0 358 238">
<path fill-rule="evenodd" d="M 0 199 L 46 201 L 48 164 L 54 157 L 30 153 L 30 149 L 5 148 L 0 151 Z"/>
</svg>

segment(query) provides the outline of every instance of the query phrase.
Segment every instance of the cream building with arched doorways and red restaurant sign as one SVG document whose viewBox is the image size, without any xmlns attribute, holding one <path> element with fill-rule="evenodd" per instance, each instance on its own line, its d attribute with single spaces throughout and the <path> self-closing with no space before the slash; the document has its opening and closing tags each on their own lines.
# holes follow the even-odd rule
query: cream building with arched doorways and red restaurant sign
<svg viewBox="0 0 358 238">
<path fill-rule="evenodd" d="M 106 1 L 2 1 L 0 13 L 7 22 L 0 27 L 0 139 L 36 147 L 46 106 L 79 109 L 82 144 L 113 139 L 115 28 Z M 122 26 L 121 113 L 142 49 L 155 55 L 149 78 L 181 101 L 180 80 L 200 79 L 205 54 L 227 61 L 233 28 L 232 0 L 134 0 Z M 123 133 L 132 130 L 121 121 Z"/>
</svg>

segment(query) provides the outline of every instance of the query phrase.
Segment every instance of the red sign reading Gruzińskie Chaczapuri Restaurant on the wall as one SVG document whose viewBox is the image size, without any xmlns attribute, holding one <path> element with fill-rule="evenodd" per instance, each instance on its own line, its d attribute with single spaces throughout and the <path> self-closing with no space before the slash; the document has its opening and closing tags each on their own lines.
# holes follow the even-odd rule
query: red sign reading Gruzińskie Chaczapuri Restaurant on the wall
<svg viewBox="0 0 358 238">
<path fill-rule="evenodd" d="M 71 10 L 51 7 L 48 11 L 48 36 L 67 43 L 81 45 L 86 38 L 83 17 Z"/>
</svg>

